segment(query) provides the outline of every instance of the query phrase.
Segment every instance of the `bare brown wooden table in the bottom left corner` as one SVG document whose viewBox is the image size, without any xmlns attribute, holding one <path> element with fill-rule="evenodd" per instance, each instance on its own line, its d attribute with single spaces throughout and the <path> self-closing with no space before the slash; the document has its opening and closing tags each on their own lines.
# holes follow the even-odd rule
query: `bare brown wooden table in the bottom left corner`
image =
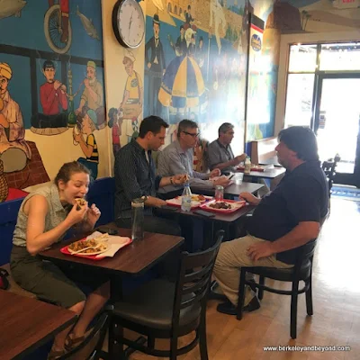
<svg viewBox="0 0 360 360">
<path fill-rule="evenodd" d="M 20 359 L 76 320 L 76 313 L 0 290 L 0 359 Z"/>
</svg>

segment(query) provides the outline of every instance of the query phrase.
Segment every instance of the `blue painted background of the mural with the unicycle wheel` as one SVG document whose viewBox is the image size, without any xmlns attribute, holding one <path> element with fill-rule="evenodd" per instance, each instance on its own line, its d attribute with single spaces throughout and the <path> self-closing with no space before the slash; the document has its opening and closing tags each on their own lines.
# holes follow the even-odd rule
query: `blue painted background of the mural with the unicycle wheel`
<svg viewBox="0 0 360 360">
<path fill-rule="evenodd" d="M 70 14 L 69 19 L 72 27 L 72 42 L 67 55 L 84 58 L 87 60 L 103 60 L 103 27 L 100 0 L 69 0 Z M 79 11 L 88 19 L 92 19 L 94 27 L 100 40 L 91 38 L 85 31 L 80 18 L 76 15 L 77 6 Z M 8 17 L 0 20 L 1 43 L 14 47 L 26 49 L 37 49 L 53 52 L 45 39 L 44 35 L 44 15 L 48 10 L 47 0 L 27 0 L 23 7 L 21 17 Z M 41 73 L 41 67 L 46 58 L 36 59 L 36 76 L 38 92 L 38 112 L 42 112 L 40 105 L 40 85 L 45 82 L 45 77 Z M 25 129 L 31 127 L 31 68 L 30 58 L 18 55 L 8 55 L 0 52 L 0 62 L 6 62 L 12 67 L 13 77 L 9 83 L 8 90 L 11 97 L 19 103 L 23 112 Z M 54 61 L 57 66 L 56 79 L 61 81 L 61 62 Z M 73 94 L 77 91 L 79 84 L 86 76 L 86 66 L 77 65 L 71 62 L 73 70 Z M 68 63 L 67 63 L 68 69 Z M 96 68 L 96 76 L 103 85 L 103 67 Z M 66 74 L 67 77 L 67 74 Z M 67 85 L 67 83 L 66 83 Z M 80 103 L 84 85 L 74 99 L 75 109 Z M 68 85 L 67 85 L 68 91 Z M 103 90 L 104 91 L 104 90 Z"/>
</svg>

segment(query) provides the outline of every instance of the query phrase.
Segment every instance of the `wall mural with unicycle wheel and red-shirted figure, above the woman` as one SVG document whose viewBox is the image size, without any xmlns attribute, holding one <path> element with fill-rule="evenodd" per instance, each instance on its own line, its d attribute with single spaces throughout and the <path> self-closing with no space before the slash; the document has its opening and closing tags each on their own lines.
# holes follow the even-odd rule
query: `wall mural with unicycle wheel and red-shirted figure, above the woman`
<svg viewBox="0 0 360 360">
<path fill-rule="evenodd" d="M 0 32 L 0 202 L 66 161 L 96 178 L 106 124 L 100 0 L 0 0 Z"/>
</svg>

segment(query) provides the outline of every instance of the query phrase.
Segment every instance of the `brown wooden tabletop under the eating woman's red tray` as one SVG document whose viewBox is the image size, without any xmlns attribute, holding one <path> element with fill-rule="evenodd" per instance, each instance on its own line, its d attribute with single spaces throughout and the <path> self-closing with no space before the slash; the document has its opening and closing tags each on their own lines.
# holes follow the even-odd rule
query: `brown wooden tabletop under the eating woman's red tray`
<svg viewBox="0 0 360 360">
<path fill-rule="evenodd" d="M 130 229 L 118 228 L 114 223 L 102 226 L 102 228 L 106 227 L 117 229 L 119 236 L 131 237 Z M 54 262 L 97 267 L 117 275 L 141 275 L 166 257 L 167 253 L 180 247 L 184 242 L 184 238 L 145 232 L 142 240 L 134 241 L 130 245 L 122 247 L 114 257 L 104 257 L 102 260 L 74 257 L 60 252 L 61 247 L 65 247 L 74 241 L 74 239 L 62 241 L 48 250 L 42 251 L 40 257 Z"/>
</svg>

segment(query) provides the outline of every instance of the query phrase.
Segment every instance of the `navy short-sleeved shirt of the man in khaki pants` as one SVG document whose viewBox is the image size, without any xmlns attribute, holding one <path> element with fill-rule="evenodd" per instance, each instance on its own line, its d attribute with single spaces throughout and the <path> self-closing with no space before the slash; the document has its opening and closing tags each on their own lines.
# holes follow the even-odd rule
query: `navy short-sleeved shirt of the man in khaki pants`
<svg viewBox="0 0 360 360">
<path fill-rule="evenodd" d="M 319 161 L 307 161 L 286 172 L 275 190 L 257 205 L 247 232 L 275 241 L 302 221 L 320 222 L 328 212 L 328 182 Z M 277 260 L 294 264 L 296 248 L 276 254 Z"/>
</svg>

